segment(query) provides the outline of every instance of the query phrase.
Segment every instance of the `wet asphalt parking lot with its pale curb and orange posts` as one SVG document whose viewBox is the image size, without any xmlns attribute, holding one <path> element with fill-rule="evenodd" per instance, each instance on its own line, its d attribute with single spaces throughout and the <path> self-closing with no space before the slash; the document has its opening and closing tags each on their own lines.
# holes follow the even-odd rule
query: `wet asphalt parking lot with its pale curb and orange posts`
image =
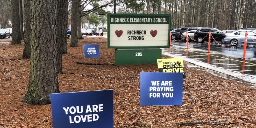
<svg viewBox="0 0 256 128">
<path fill-rule="evenodd" d="M 237 81 L 250 82 L 256 85 L 256 43 L 247 45 L 244 58 L 244 46 L 228 46 L 213 42 L 176 42 L 169 48 L 162 48 L 162 54 L 174 58 L 182 58 L 197 68 L 207 69 L 215 75 Z"/>
</svg>

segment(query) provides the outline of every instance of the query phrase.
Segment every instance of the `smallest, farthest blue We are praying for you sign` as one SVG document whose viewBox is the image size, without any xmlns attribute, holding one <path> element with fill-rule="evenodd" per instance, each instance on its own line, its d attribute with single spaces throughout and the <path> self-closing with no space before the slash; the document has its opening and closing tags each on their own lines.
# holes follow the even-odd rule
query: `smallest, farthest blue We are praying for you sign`
<svg viewBox="0 0 256 128">
<path fill-rule="evenodd" d="M 99 45 L 83 45 L 85 58 L 99 58 Z"/>
</svg>

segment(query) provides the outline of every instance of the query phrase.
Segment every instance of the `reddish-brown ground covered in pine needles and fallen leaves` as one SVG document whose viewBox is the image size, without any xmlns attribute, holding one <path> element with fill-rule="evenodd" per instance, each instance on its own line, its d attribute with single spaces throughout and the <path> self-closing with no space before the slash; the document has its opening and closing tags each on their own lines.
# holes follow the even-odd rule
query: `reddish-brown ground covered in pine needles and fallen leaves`
<svg viewBox="0 0 256 128">
<path fill-rule="evenodd" d="M 10 41 L 11 39 L 0 39 Z M 70 42 L 70 39 L 68 39 Z M 184 62 L 182 106 L 140 106 L 140 72 L 158 72 L 156 64 L 115 66 L 114 49 L 106 38 L 97 43 L 100 58 L 84 58 L 83 44 L 63 55 L 59 75 L 61 93 L 114 90 L 114 128 L 255 128 L 256 88 L 188 67 Z M 0 43 L 0 128 L 52 128 L 51 105 L 21 102 L 28 89 L 30 60 L 22 57 L 23 44 Z M 162 56 L 162 58 L 168 58 Z M 106 65 L 83 65 L 82 63 Z"/>
</svg>

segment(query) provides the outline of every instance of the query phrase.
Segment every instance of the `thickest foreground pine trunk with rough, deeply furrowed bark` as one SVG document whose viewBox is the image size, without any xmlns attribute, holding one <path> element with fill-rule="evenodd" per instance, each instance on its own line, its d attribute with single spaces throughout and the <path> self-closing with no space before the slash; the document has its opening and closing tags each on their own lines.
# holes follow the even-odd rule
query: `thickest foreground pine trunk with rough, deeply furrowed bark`
<svg viewBox="0 0 256 128">
<path fill-rule="evenodd" d="M 45 105 L 51 103 L 49 94 L 60 92 L 56 70 L 57 4 L 55 0 L 31 0 L 30 7 L 30 79 L 23 102 Z"/>
</svg>

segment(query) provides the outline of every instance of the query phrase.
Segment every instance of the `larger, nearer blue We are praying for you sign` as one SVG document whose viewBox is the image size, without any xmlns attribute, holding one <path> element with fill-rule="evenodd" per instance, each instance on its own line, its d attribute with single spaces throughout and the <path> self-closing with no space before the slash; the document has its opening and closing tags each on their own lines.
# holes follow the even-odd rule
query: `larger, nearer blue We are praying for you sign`
<svg viewBox="0 0 256 128">
<path fill-rule="evenodd" d="M 183 73 L 141 72 L 140 105 L 182 105 Z"/>
</svg>

